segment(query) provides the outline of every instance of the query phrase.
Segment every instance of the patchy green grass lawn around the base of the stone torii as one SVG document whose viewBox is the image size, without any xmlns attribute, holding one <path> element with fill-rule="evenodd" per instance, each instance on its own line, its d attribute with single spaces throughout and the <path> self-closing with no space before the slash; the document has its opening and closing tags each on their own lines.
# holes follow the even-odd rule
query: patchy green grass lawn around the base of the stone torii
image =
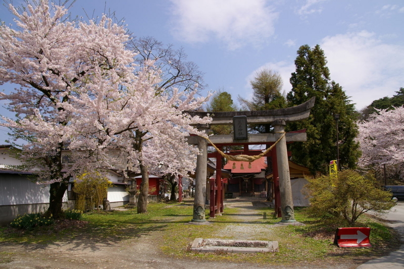
<svg viewBox="0 0 404 269">
<path fill-rule="evenodd" d="M 304 208 L 295 208 L 295 219 L 306 226 L 282 226 L 274 224 L 280 218 L 273 217 L 273 209 L 261 208 L 262 218 L 254 221 L 258 232 L 256 240 L 279 242 L 279 252 L 257 254 L 194 253 L 189 246 L 195 238 L 238 239 L 218 231 L 226 231 L 229 226 L 248 226 L 234 222 L 238 209 L 225 209 L 223 216 L 215 218 L 212 225 L 188 225 L 192 219 L 193 205 L 185 203 L 150 203 L 148 213 L 137 214 L 136 210 L 99 211 L 86 213 L 82 221 L 70 225 L 56 224 L 39 227 L 32 231 L 11 228 L 0 229 L 0 242 L 53 243 L 56 241 L 83 238 L 99 241 L 113 241 L 124 244 L 126 239 L 136 239 L 142 235 L 156 238 L 164 254 L 175 258 L 204 260 L 231 260 L 233 262 L 255 262 L 266 264 L 287 264 L 294 262 L 324 261 L 359 256 L 378 256 L 396 249 L 399 238 L 395 232 L 382 223 L 363 217 L 357 227 L 370 227 L 372 248 L 338 248 L 333 244 L 333 235 L 338 226 L 307 216 Z M 264 218 L 264 213 L 267 218 Z M 209 211 L 207 210 L 207 216 Z M 244 227 L 243 226 L 243 227 Z M 262 228 L 262 229 L 261 229 Z M 243 228 L 244 229 L 244 228 Z M 264 232 L 263 232 L 264 230 Z M 268 231 L 268 232 L 266 232 Z M 214 235 L 214 237 L 212 237 Z"/>
</svg>

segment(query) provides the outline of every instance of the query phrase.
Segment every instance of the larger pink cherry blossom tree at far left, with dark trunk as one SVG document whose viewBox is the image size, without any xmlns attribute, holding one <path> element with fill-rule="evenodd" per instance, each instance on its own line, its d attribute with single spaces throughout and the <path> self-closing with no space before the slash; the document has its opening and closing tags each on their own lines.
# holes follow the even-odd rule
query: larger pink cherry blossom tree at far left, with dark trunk
<svg viewBox="0 0 404 269">
<path fill-rule="evenodd" d="M 25 8 L 9 5 L 16 27 L 0 26 L 0 83 L 20 86 L 0 98 L 9 100 L 9 110 L 18 116 L 17 121 L 5 119 L 4 126 L 26 140 L 20 157 L 26 169 L 39 169 L 39 182 L 50 184 L 48 211 L 58 217 L 69 178 L 77 170 L 62 166 L 62 151 L 75 133 L 72 97 L 95 77 L 111 81 L 131 76 L 134 54 L 125 49 L 125 29 L 106 16 L 98 23 L 70 21 L 64 7 L 32 3 Z M 81 155 L 90 161 L 80 164 L 96 159 L 96 154 Z"/>
</svg>

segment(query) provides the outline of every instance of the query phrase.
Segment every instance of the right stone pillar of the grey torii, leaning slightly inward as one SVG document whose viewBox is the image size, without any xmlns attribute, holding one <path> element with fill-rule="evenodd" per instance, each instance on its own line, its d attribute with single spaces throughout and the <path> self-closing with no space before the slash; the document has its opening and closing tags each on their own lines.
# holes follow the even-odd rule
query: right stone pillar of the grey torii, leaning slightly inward
<svg viewBox="0 0 404 269">
<path fill-rule="evenodd" d="M 278 132 L 278 137 L 283 135 L 282 133 L 285 131 L 285 125 L 286 123 L 283 120 L 276 120 L 272 123 L 275 133 Z M 290 174 L 285 136 L 276 144 L 275 147 L 279 174 L 279 192 L 281 196 L 281 223 L 294 223 L 296 220 L 294 219 L 292 188 L 290 186 Z"/>
</svg>

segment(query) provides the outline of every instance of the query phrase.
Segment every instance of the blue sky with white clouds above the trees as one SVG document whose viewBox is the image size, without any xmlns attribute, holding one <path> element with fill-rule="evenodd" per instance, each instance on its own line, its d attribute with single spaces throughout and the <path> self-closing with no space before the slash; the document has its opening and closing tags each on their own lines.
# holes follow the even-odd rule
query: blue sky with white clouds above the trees
<svg viewBox="0 0 404 269">
<path fill-rule="evenodd" d="M 115 11 L 135 35 L 183 47 L 205 73 L 204 95 L 223 88 L 233 100 L 248 98 L 249 81 L 264 67 L 279 72 L 290 91 L 304 44 L 321 46 L 331 79 L 358 110 L 404 87 L 402 0 L 77 0 L 70 11 L 85 16 L 83 10 L 90 17 Z M 2 21 L 12 18 L 0 8 Z M 0 127 L 0 144 L 6 133 Z"/>
</svg>

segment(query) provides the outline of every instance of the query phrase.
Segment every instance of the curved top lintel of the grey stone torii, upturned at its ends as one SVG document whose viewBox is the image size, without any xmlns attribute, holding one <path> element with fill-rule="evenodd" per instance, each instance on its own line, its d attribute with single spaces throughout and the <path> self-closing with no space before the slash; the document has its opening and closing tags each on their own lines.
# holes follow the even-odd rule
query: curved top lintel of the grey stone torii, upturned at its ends
<svg viewBox="0 0 404 269">
<path fill-rule="evenodd" d="M 247 116 L 248 124 L 272 123 L 276 120 L 296 122 L 309 118 L 310 109 L 314 106 L 316 97 L 310 100 L 286 109 L 264 110 L 264 111 L 232 111 L 232 112 L 196 112 L 185 111 L 190 116 L 212 117 L 211 125 L 232 125 L 234 116 Z"/>
</svg>

